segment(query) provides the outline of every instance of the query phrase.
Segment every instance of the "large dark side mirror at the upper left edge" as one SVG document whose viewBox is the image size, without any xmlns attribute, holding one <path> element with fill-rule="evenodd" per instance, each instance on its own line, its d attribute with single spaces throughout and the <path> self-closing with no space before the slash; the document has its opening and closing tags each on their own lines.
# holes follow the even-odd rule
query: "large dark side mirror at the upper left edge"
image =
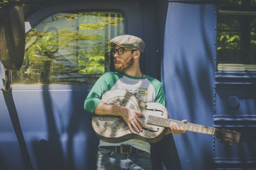
<svg viewBox="0 0 256 170">
<path fill-rule="evenodd" d="M 25 52 L 25 23 L 20 3 L 9 3 L 0 11 L 0 60 L 5 71 L 20 70 Z"/>
</svg>

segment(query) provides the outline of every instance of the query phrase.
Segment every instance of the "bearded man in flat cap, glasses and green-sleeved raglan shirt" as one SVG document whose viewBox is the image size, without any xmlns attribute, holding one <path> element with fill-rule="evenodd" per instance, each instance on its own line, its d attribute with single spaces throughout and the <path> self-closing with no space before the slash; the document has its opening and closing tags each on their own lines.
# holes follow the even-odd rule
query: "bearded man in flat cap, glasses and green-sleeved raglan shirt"
<svg viewBox="0 0 256 170">
<path fill-rule="evenodd" d="M 115 69 L 119 72 L 106 72 L 94 84 L 90 93 L 85 100 L 84 109 L 99 115 L 122 116 L 127 123 L 131 133 L 133 128 L 140 132 L 144 124 L 139 119 L 139 113 L 135 110 L 109 105 L 101 101 L 102 94 L 111 89 L 140 90 L 143 95 L 138 95 L 143 102 L 158 102 L 165 105 L 165 95 L 162 84 L 148 75 L 144 75 L 140 71 L 139 59 L 145 49 L 145 43 L 142 39 L 123 35 L 117 36 L 110 41 L 111 50 L 114 56 Z M 186 120 L 183 120 L 186 122 Z M 185 133 L 182 127 L 176 123 L 171 123 L 167 134 Z M 120 145 L 128 144 L 131 146 L 123 146 L 123 151 L 132 148 L 132 153 L 121 154 Z M 97 155 L 98 169 L 145 169 L 151 170 L 152 163 L 150 158 L 150 144 L 142 140 L 131 139 L 122 143 L 107 143 L 100 141 Z"/>
</svg>

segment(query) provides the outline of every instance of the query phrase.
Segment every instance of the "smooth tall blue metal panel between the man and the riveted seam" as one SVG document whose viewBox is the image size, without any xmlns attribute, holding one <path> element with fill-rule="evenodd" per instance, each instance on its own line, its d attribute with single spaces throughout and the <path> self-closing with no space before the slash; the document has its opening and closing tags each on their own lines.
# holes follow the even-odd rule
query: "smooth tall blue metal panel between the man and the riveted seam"
<svg viewBox="0 0 256 170">
<path fill-rule="evenodd" d="M 171 119 L 212 126 L 216 68 L 216 2 L 169 2 L 162 81 Z M 182 169 L 213 167 L 213 136 L 174 135 Z"/>
</svg>

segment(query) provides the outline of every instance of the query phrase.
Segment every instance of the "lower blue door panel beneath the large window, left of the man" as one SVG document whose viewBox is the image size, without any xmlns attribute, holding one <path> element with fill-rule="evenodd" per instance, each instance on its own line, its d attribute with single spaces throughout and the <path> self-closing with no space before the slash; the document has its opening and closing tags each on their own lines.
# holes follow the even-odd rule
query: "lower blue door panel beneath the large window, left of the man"
<svg viewBox="0 0 256 170">
<path fill-rule="evenodd" d="M 21 155 L 18 140 L 24 137 L 33 169 L 95 168 L 95 159 L 91 157 L 96 157 L 99 139 L 91 127 L 92 115 L 82 107 L 89 91 L 13 90 L 19 120 L 13 123 L 20 123 L 22 133 L 15 135 L 17 127 L 13 126 L 7 108 L 2 107 L 0 150 L 4 167 L 26 169 L 21 166 L 22 156 L 17 156 Z M 6 96 L 11 94 L 0 94 L 2 106 Z M 16 164 L 11 163 L 12 158 L 17 159 Z"/>
</svg>

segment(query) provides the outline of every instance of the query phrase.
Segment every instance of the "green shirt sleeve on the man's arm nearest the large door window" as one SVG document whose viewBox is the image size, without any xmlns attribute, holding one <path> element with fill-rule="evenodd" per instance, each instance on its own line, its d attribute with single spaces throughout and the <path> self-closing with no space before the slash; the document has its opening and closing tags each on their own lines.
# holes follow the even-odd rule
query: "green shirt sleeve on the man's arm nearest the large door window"
<svg viewBox="0 0 256 170">
<path fill-rule="evenodd" d="M 106 72 L 103 74 L 94 84 L 90 93 L 84 102 L 84 110 L 93 113 L 96 106 L 102 102 L 100 99 L 101 96 L 111 89 L 114 86 L 114 83 L 117 81 L 114 74 L 111 72 Z"/>
</svg>

